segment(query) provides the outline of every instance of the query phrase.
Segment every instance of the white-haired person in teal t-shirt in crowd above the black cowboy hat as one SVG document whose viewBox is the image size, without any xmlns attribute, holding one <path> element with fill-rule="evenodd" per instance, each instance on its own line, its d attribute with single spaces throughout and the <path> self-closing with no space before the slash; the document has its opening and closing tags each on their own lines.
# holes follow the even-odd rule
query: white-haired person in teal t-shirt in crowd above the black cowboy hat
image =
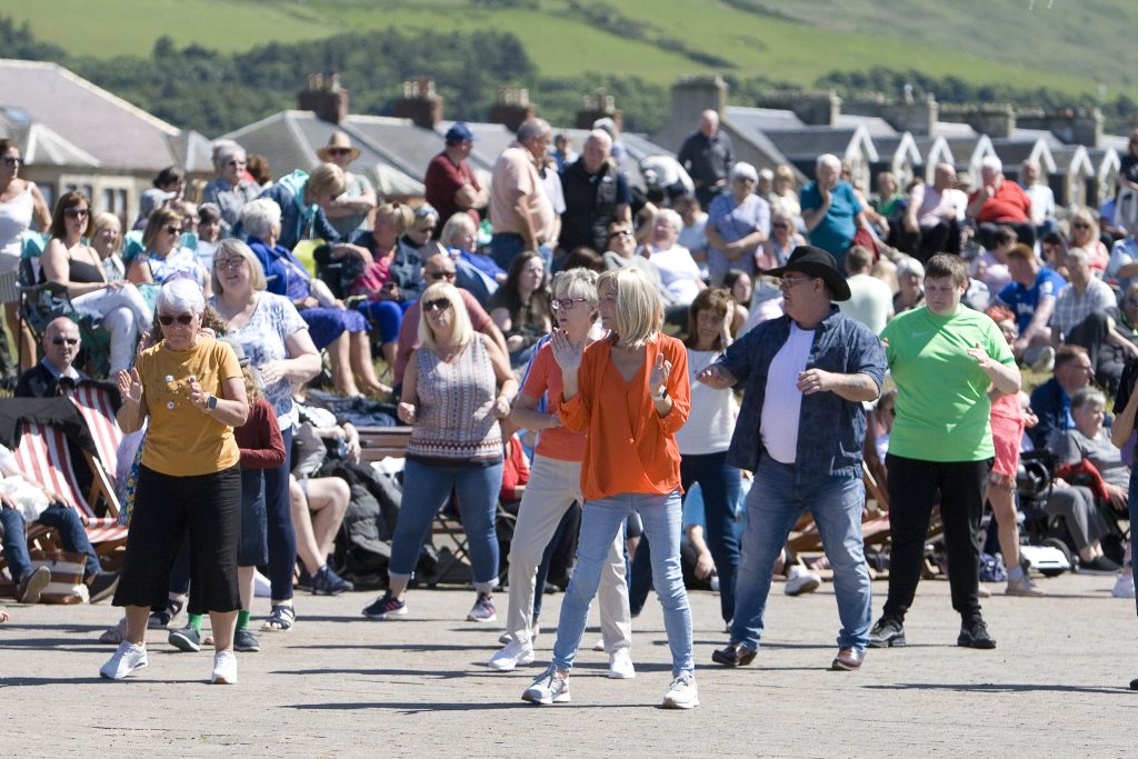
<svg viewBox="0 0 1138 759">
<path fill-rule="evenodd" d="M 810 245 L 834 256 L 838 266 L 853 245 L 859 229 L 868 229 L 864 208 L 853 187 L 841 179 L 842 162 L 824 154 L 815 164 L 815 181 L 802 188 L 802 221 Z"/>
</svg>

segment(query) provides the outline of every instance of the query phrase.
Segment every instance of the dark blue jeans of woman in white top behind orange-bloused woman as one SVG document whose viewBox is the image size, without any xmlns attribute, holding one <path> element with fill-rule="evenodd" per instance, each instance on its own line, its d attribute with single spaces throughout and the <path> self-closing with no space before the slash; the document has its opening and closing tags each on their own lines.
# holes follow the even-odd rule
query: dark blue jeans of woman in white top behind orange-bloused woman
<svg viewBox="0 0 1138 759">
<path fill-rule="evenodd" d="M 708 551 L 719 576 L 719 611 L 723 620 L 735 618 L 735 575 L 739 571 L 739 541 L 735 538 L 735 503 L 742 489 L 742 472 L 727 463 L 727 452 L 685 455 L 679 462 L 679 479 L 686 493 L 693 482 L 700 484 L 703 495 L 704 525 Z M 687 527 L 683 525 L 682 527 Z M 652 550 L 642 538 L 629 577 L 628 602 L 640 613 L 651 587 L 650 567 Z"/>
</svg>

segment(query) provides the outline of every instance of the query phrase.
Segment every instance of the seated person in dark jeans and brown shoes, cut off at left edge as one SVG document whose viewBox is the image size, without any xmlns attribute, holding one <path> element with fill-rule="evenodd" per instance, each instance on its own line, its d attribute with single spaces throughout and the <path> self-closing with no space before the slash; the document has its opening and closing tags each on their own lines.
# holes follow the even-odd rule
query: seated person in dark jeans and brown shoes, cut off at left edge
<svg viewBox="0 0 1138 759">
<path fill-rule="evenodd" d="M 0 445 L 0 539 L 8 572 L 16 584 L 16 600 L 20 603 L 36 603 L 51 579 L 51 570 L 47 567 L 32 568 L 32 558 L 27 552 L 30 521 L 56 530 L 64 551 L 83 554 L 83 583 L 90 592 L 91 603 L 102 601 L 115 592 L 118 574 L 102 571 L 79 512 L 61 495 L 36 482 L 30 472 L 20 471 L 13 452 Z"/>
</svg>

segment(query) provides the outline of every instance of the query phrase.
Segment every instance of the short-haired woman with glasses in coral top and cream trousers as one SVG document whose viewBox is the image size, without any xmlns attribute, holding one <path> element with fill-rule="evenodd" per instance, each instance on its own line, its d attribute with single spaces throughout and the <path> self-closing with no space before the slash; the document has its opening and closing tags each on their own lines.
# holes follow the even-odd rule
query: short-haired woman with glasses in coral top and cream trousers
<svg viewBox="0 0 1138 759">
<path fill-rule="evenodd" d="M 553 278 L 558 327 L 575 345 L 588 346 L 604 336 L 597 323 L 596 280 L 596 274 L 585 269 L 558 272 Z M 556 409 L 551 413 L 538 405 L 543 397 L 553 402 L 561 390 L 561 368 L 553 357 L 553 346 L 545 343 L 534 357 L 526 385 L 510 412 L 512 424 L 538 430 L 539 437 L 510 542 L 510 612 L 505 626 L 509 642 L 488 662 L 490 669 L 503 673 L 534 661 L 538 566 L 566 512 L 585 500 L 580 494 L 585 432 L 564 427 Z M 629 655 L 632 616 L 625 581 L 624 535 L 619 530 L 601 572 L 601 632 L 609 653 L 609 677 L 635 677 Z"/>
</svg>

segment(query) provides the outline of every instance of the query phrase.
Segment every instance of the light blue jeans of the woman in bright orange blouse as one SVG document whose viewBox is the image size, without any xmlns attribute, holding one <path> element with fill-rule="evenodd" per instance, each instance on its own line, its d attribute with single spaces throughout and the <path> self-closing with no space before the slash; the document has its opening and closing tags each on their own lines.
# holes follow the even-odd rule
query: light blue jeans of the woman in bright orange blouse
<svg viewBox="0 0 1138 759">
<path fill-rule="evenodd" d="M 601 585 L 604 564 L 625 519 L 634 510 L 644 523 L 644 535 L 655 546 L 652 552 L 652 578 L 663 607 L 663 627 L 671 650 L 671 674 L 692 673 L 692 610 L 687 604 L 684 574 L 679 567 L 679 490 L 667 495 L 622 493 L 599 501 L 588 501 L 582 510 L 580 537 L 577 541 L 577 566 L 561 602 L 558 640 L 553 644 L 553 666 L 572 669 L 574 657 L 585 634 L 588 604 Z"/>
</svg>

